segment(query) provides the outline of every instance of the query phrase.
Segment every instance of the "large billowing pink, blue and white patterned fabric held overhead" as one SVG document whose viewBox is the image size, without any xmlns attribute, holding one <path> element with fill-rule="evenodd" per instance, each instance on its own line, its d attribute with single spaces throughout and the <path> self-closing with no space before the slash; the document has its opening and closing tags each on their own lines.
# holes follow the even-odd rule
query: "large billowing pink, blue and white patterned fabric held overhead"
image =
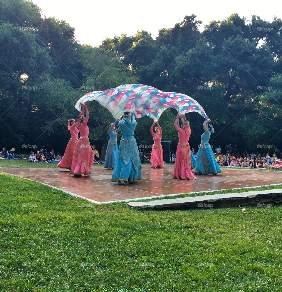
<svg viewBox="0 0 282 292">
<path fill-rule="evenodd" d="M 125 110 L 134 111 L 137 119 L 149 116 L 157 121 L 169 107 L 178 113 L 196 111 L 208 118 L 202 106 L 191 97 L 175 92 L 163 92 L 144 84 L 123 84 L 104 91 L 93 91 L 81 97 L 75 105 L 80 111 L 80 102 L 98 101 L 118 119 Z"/>
</svg>

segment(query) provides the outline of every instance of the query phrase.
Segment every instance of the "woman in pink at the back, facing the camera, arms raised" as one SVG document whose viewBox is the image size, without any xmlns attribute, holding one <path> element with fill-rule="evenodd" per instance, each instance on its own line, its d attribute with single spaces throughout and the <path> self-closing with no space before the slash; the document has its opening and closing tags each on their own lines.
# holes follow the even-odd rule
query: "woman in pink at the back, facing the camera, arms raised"
<svg viewBox="0 0 282 292">
<path fill-rule="evenodd" d="M 157 127 L 155 128 L 156 133 L 153 131 L 153 127 L 157 123 Z M 151 168 L 164 168 L 164 157 L 162 151 L 162 129 L 158 122 L 153 122 L 151 127 L 151 134 L 154 139 L 154 144 L 152 147 L 152 154 L 151 154 Z"/>
</svg>

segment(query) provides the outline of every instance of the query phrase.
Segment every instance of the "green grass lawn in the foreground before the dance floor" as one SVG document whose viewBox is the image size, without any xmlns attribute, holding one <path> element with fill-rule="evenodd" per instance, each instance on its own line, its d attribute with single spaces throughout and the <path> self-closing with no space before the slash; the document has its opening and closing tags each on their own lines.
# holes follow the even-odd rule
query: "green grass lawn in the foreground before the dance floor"
<svg viewBox="0 0 282 292">
<path fill-rule="evenodd" d="M 141 212 L 0 181 L 1 292 L 282 291 L 281 206 Z"/>
</svg>

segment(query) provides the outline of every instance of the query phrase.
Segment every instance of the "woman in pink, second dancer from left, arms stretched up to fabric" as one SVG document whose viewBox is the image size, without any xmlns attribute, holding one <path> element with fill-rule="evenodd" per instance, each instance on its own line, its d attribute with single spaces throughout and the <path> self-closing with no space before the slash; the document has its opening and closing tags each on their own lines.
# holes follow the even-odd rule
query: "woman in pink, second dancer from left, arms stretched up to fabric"
<svg viewBox="0 0 282 292">
<path fill-rule="evenodd" d="M 77 122 L 75 123 L 78 125 L 80 138 L 74 151 L 73 162 L 70 170 L 70 173 L 77 177 L 81 176 L 81 174 L 89 175 L 93 163 L 93 150 L 89 143 L 89 128 L 87 126 L 89 111 L 85 104 L 80 103 L 80 106 L 82 115 L 78 117 Z M 86 111 L 85 117 L 84 111 Z"/>
</svg>

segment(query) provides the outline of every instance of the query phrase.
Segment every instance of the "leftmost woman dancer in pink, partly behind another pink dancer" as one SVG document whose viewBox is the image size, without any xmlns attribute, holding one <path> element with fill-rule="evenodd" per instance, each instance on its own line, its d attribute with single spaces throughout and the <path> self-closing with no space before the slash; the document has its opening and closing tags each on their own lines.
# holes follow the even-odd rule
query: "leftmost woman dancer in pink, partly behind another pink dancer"
<svg viewBox="0 0 282 292">
<path fill-rule="evenodd" d="M 68 141 L 67 148 L 63 159 L 58 163 L 58 167 L 71 169 L 71 163 L 73 162 L 73 154 L 75 151 L 76 144 L 78 142 L 77 123 L 75 119 L 68 120 L 68 130 L 70 131 L 70 140 Z"/>
</svg>

